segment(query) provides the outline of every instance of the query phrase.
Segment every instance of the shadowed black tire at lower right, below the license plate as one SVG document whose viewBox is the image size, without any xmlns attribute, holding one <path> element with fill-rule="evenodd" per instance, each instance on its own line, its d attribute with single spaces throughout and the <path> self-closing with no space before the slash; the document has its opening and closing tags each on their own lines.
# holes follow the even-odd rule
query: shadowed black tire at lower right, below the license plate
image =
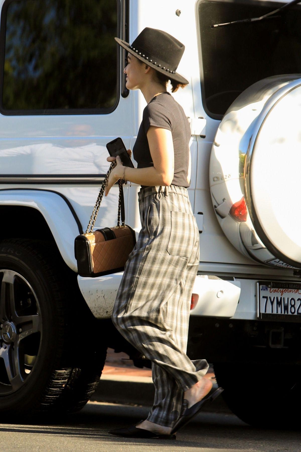
<svg viewBox="0 0 301 452">
<path fill-rule="evenodd" d="M 300 429 L 299 366 L 215 363 L 214 372 L 230 410 L 247 424 L 260 428 Z"/>
</svg>

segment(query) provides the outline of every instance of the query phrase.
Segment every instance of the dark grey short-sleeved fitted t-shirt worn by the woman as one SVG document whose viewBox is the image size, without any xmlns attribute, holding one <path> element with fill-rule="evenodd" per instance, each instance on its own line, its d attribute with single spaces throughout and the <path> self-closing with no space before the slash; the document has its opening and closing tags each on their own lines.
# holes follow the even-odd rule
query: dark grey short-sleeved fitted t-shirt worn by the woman
<svg viewBox="0 0 301 452">
<path fill-rule="evenodd" d="M 161 127 L 171 131 L 175 170 L 171 184 L 179 187 L 189 187 L 187 182 L 189 165 L 190 125 L 184 110 L 169 93 L 159 94 L 144 108 L 136 142 L 133 147 L 134 159 L 138 168 L 153 166 L 149 151 L 147 132 L 150 126 Z M 141 187 L 145 187 L 142 185 Z"/>
</svg>

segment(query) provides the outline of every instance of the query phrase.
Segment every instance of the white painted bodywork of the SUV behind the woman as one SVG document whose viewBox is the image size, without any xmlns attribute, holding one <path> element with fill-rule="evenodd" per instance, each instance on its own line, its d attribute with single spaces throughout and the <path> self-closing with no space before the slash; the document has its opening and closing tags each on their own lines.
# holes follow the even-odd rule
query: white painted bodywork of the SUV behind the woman
<svg viewBox="0 0 301 452">
<path fill-rule="evenodd" d="M 3 3 L 0 0 L 0 7 Z M 130 42 L 144 27 L 151 26 L 171 33 L 186 45 L 178 72 L 190 84 L 173 96 L 189 117 L 193 134 L 188 192 L 200 231 L 201 274 L 194 285 L 199 301 L 191 315 L 253 319 L 256 318 L 255 280 L 266 278 L 266 273 L 271 278 L 289 280 L 293 273 L 286 269 L 267 270 L 250 256 L 243 255 L 229 242 L 215 217 L 209 187 L 209 159 L 220 121 L 209 117 L 202 103 L 197 3 L 195 0 L 178 0 L 176 5 L 169 0 L 130 1 Z M 179 17 L 176 9 L 181 9 Z M 47 190 L 67 198 L 85 231 L 102 175 L 109 167 L 106 143 L 121 137 L 125 146 L 132 149 L 145 106 L 143 95 L 135 90 L 126 98 L 120 96 L 116 109 L 109 114 L 0 114 L 0 206 L 28 206 L 39 210 L 65 263 L 74 271 L 77 271 L 74 238 L 79 234 L 79 227 L 64 199 Z M 59 178 L 64 179 L 64 184 L 59 183 Z M 138 191 L 137 184 L 125 185 L 125 221 L 137 234 L 141 227 Z M 116 224 L 117 197 L 116 185 L 102 201 L 95 229 Z M 230 281 L 233 274 L 235 283 Z M 226 276 L 229 281 L 212 280 L 204 275 Z M 252 279 L 247 279 L 250 275 Z M 78 277 L 83 297 L 97 318 L 111 316 L 121 277 L 122 273 L 101 278 Z M 218 298 L 221 290 L 223 297 Z"/>
</svg>

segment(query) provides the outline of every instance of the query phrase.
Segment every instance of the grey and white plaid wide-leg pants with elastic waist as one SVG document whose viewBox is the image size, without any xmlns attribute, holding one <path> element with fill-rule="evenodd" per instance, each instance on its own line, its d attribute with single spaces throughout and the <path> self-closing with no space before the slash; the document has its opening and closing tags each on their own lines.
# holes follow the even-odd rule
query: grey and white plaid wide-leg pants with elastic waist
<svg viewBox="0 0 301 452">
<path fill-rule="evenodd" d="M 191 293 L 199 266 L 199 230 L 187 188 L 139 191 L 142 229 L 125 264 L 112 320 L 152 361 L 155 400 L 148 420 L 171 426 L 183 391 L 208 370 L 186 355 Z"/>
</svg>

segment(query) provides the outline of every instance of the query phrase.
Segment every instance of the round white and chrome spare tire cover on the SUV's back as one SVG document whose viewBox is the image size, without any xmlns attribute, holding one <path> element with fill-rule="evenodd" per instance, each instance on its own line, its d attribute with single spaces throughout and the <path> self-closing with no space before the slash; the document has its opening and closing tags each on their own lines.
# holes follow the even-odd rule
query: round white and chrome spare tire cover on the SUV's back
<svg viewBox="0 0 301 452">
<path fill-rule="evenodd" d="M 301 268 L 301 74 L 251 85 L 216 133 L 210 190 L 232 244 L 252 259 Z"/>
</svg>

